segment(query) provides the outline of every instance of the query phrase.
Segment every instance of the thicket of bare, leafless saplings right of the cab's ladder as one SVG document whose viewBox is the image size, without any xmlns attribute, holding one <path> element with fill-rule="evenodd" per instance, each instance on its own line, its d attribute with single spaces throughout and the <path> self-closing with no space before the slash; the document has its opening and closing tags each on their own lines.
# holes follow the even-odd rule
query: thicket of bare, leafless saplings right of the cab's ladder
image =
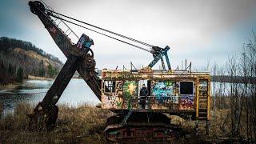
<svg viewBox="0 0 256 144">
<path fill-rule="evenodd" d="M 255 142 L 256 35 L 253 33 L 253 38 L 244 44 L 242 52 L 228 58 L 225 66 L 214 65 L 212 75 L 215 76 L 212 117 L 216 127 L 233 138 Z"/>
</svg>

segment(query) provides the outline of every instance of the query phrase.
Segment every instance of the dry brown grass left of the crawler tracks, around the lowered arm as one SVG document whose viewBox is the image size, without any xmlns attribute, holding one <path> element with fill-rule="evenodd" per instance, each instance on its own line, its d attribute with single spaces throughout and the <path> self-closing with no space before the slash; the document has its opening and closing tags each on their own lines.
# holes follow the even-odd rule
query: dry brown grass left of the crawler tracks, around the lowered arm
<svg viewBox="0 0 256 144">
<path fill-rule="evenodd" d="M 58 106 L 57 127 L 46 130 L 27 129 L 26 114 L 33 109 L 26 103 L 18 104 L 14 114 L 0 120 L 0 143 L 103 143 L 106 118 L 112 113 L 84 105 L 78 108 Z"/>
</svg>

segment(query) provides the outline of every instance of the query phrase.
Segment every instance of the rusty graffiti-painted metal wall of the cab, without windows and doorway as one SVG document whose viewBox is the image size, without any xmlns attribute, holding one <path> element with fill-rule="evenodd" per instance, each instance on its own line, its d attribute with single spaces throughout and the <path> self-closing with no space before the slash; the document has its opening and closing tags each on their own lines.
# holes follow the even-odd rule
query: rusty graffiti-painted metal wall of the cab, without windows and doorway
<svg viewBox="0 0 256 144">
<path fill-rule="evenodd" d="M 140 90 L 138 82 L 150 80 L 150 95 L 145 100 L 146 109 L 198 111 L 199 106 L 208 104 L 208 102 L 199 102 L 199 79 L 206 79 L 210 82 L 210 74 L 198 72 L 189 74 L 179 72 L 172 74 L 170 72 L 131 73 L 129 70 L 102 70 L 102 81 L 116 82 L 113 92 L 107 93 L 102 90 L 102 108 L 142 109 L 142 97 L 138 95 Z M 193 94 L 180 94 L 180 82 L 193 82 Z"/>
</svg>

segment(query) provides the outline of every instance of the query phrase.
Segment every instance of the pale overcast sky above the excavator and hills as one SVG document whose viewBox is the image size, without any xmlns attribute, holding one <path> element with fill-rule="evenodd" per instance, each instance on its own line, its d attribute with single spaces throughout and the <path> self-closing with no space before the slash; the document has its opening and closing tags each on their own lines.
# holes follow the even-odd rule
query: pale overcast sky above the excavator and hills
<svg viewBox="0 0 256 144">
<path fill-rule="evenodd" d="M 27 0 L 0 1 L 0 36 L 18 38 L 66 61 Z M 170 46 L 171 66 L 182 60 L 193 67 L 224 64 L 242 51 L 256 26 L 256 0 L 45 0 L 61 14 L 113 30 L 154 46 Z M 97 67 L 114 69 L 148 65 L 149 53 L 88 30 L 71 26 L 94 39 Z M 77 39 L 73 39 L 76 43 Z"/>
</svg>

